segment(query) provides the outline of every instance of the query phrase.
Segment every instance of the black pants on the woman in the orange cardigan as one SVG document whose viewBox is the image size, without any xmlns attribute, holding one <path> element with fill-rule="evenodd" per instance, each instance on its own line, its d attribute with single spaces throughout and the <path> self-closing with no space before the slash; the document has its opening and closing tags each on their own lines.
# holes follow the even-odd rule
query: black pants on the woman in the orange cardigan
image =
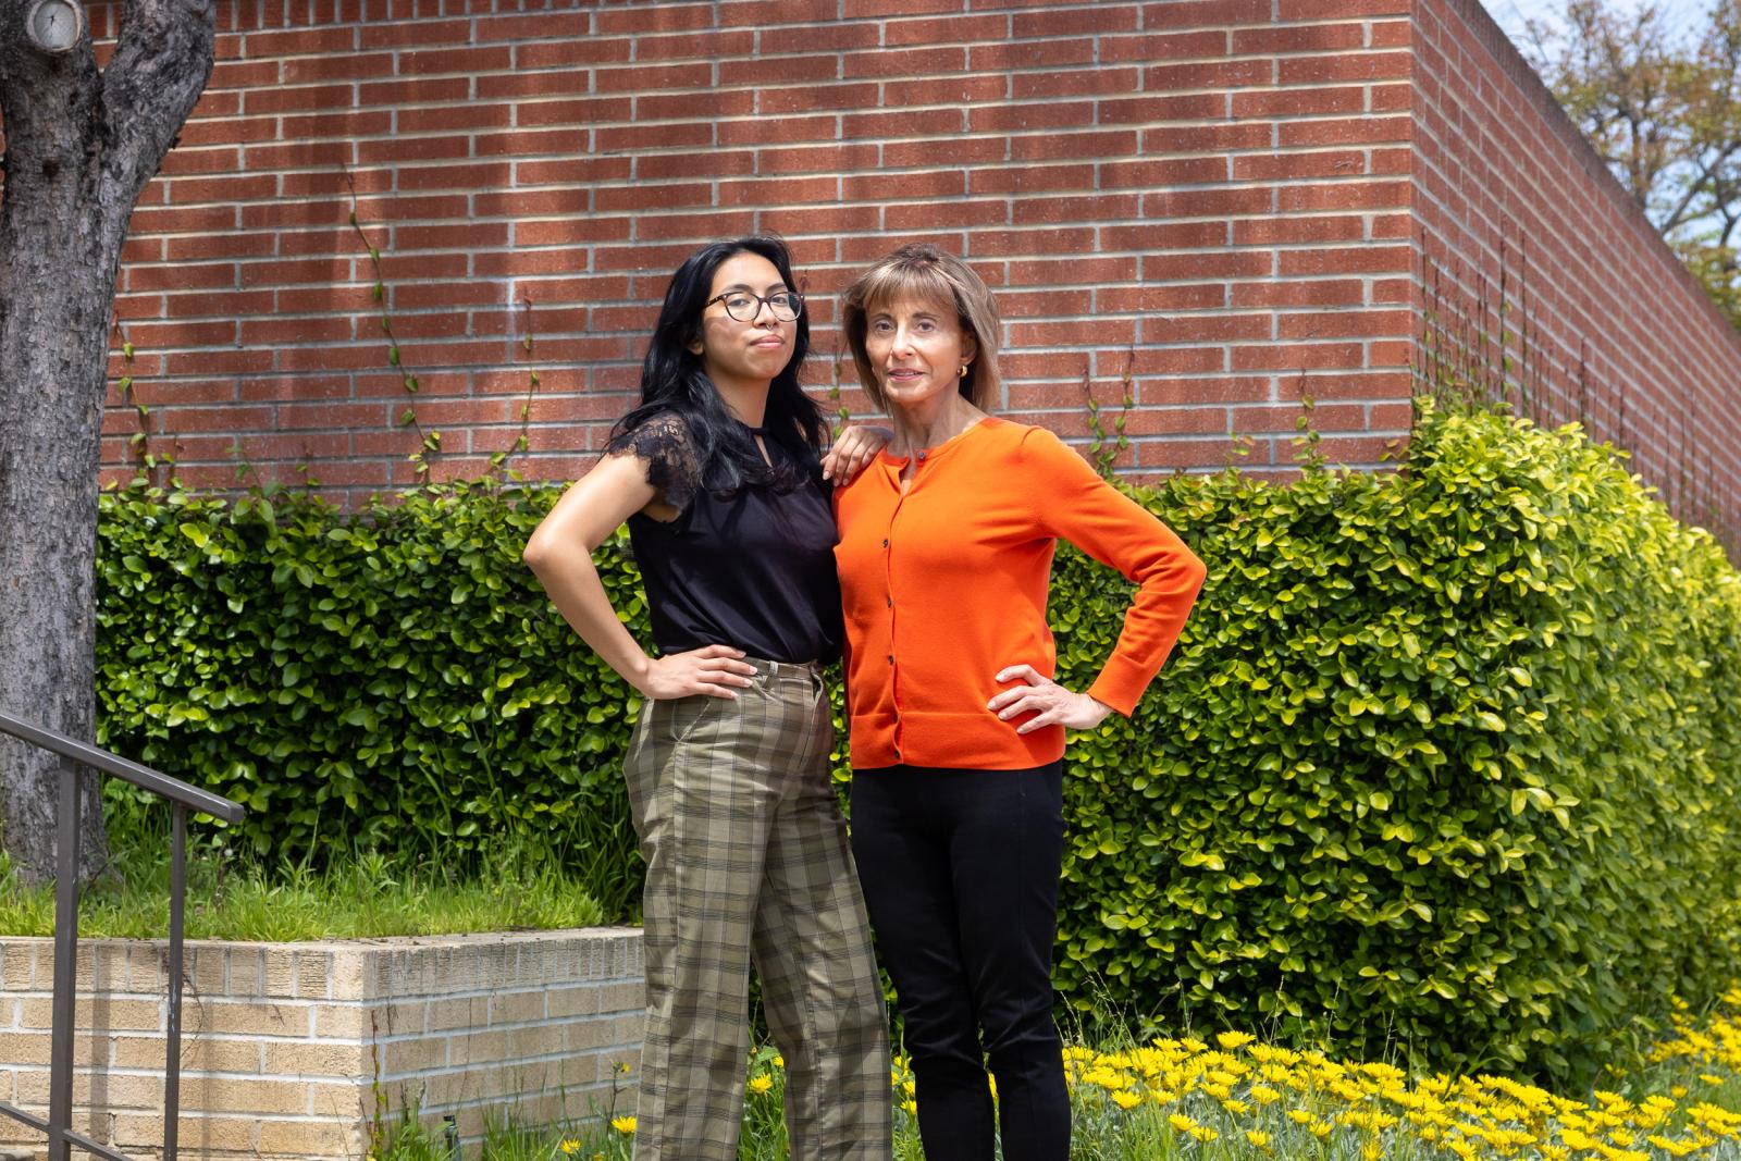
<svg viewBox="0 0 1741 1161">
<path fill-rule="evenodd" d="M 898 992 L 924 1156 L 991 1161 L 989 1058 L 1005 1161 L 1067 1161 L 1052 1022 L 1062 762 L 855 773 L 853 856 Z"/>
</svg>

